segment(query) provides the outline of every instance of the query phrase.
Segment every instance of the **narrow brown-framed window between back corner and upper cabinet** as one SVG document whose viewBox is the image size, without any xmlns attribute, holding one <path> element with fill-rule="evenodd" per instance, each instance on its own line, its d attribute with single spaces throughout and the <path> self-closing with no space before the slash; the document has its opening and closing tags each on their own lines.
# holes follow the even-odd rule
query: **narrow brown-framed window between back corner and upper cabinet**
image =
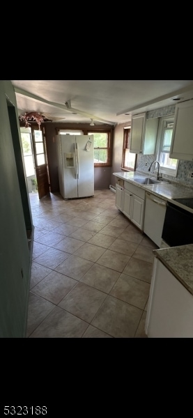
<svg viewBox="0 0 193 418">
<path fill-rule="evenodd" d="M 123 129 L 123 158 L 122 169 L 134 171 L 136 166 L 136 154 L 130 153 L 130 134 L 131 128 L 124 127 Z"/>
</svg>

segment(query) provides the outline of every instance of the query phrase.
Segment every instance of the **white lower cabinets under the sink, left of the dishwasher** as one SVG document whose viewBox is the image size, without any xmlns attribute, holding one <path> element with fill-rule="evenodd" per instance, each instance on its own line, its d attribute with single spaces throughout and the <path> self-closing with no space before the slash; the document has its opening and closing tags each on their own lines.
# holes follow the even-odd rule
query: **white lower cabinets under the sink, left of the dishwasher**
<svg viewBox="0 0 193 418">
<path fill-rule="evenodd" d="M 116 179 L 116 207 L 141 231 L 144 226 L 144 203 L 145 191 L 141 187 Z"/>
</svg>

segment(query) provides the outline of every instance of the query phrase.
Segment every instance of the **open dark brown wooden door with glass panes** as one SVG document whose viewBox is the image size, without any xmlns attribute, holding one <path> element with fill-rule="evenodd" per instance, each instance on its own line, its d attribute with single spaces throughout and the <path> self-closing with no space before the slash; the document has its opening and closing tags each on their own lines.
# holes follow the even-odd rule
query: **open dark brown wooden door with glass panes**
<svg viewBox="0 0 193 418">
<path fill-rule="evenodd" d="M 49 194 L 49 174 L 47 169 L 47 155 L 45 147 L 44 128 L 31 127 L 33 138 L 33 151 L 35 160 L 36 178 L 38 183 L 39 199 Z"/>
</svg>

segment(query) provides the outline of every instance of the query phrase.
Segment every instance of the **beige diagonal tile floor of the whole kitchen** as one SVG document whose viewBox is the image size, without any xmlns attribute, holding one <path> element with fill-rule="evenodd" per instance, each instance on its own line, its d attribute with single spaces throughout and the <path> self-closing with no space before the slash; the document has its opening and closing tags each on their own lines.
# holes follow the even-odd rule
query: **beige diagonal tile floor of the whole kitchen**
<svg viewBox="0 0 193 418">
<path fill-rule="evenodd" d="M 146 338 L 157 246 L 115 206 L 30 193 L 34 240 L 26 337 Z"/>
</svg>

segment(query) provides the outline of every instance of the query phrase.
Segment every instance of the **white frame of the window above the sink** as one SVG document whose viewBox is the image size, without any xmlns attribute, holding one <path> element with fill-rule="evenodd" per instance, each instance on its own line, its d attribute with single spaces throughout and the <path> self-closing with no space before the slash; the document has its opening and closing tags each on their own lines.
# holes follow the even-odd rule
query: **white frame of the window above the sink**
<svg viewBox="0 0 193 418">
<path fill-rule="evenodd" d="M 162 153 L 163 149 L 163 143 L 164 143 L 164 131 L 166 130 L 167 123 L 174 123 L 174 115 L 172 116 L 162 116 L 159 121 L 158 125 L 158 132 L 157 132 L 157 160 L 160 162 L 160 155 Z M 170 153 L 170 150 L 168 151 L 168 154 Z M 177 160 L 176 158 L 174 160 Z M 178 164 L 179 160 L 177 160 L 176 169 L 169 169 L 167 167 L 164 167 L 160 163 L 160 173 L 171 176 L 171 177 L 177 177 L 178 173 Z"/>
</svg>

